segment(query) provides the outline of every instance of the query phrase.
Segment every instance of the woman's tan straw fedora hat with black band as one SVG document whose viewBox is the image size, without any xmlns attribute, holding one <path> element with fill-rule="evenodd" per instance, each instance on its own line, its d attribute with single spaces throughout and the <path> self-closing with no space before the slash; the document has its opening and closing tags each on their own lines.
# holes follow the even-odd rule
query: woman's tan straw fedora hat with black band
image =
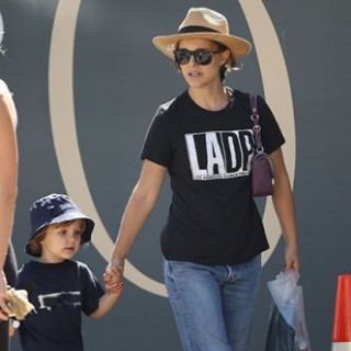
<svg viewBox="0 0 351 351">
<path fill-rule="evenodd" d="M 152 43 L 162 54 L 174 59 L 177 43 L 184 38 L 219 42 L 230 50 L 235 59 L 248 55 L 251 50 L 248 41 L 229 34 L 228 21 L 223 14 L 207 8 L 191 8 L 177 34 L 155 36 Z"/>
</svg>

